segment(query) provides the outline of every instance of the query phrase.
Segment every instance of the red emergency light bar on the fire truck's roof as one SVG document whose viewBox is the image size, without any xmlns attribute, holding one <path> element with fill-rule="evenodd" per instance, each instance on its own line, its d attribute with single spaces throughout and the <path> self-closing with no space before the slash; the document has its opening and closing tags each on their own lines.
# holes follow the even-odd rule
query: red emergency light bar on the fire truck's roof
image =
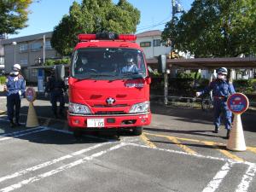
<svg viewBox="0 0 256 192">
<path fill-rule="evenodd" d="M 127 34 L 116 34 L 107 32 L 98 32 L 96 34 L 79 34 L 79 41 L 90 41 L 90 40 L 122 40 L 122 41 L 135 41 L 136 35 Z"/>
</svg>

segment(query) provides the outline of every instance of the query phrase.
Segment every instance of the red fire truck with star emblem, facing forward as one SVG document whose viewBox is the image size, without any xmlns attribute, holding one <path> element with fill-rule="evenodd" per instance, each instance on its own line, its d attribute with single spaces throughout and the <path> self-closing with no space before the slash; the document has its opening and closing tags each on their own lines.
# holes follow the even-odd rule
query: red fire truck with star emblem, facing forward
<svg viewBox="0 0 256 192">
<path fill-rule="evenodd" d="M 151 122 L 148 67 L 135 35 L 80 34 L 68 79 L 68 125 L 85 130 L 129 129 Z"/>
</svg>

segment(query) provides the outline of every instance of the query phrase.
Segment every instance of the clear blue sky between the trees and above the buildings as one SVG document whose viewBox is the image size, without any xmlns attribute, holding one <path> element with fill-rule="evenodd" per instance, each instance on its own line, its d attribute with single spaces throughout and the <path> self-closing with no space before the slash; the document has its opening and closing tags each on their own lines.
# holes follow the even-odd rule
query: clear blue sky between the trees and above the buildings
<svg viewBox="0 0 256 192">
<path fill-rule="evenodd" d="M 18 34 L 9 35 L 9 38 L 53 31 L 62 16 L 68 14 L 73 1 L 41 0 L 39 3 L 32 3 L 29 7 L 31 14 L 28 17 L 28 26 L 18 31 Z M 118 1 L 113 0 L 113 3 L 118 3 Z M 81 0 L 77 2 L 80 3 Z M 141 11 L 141 22 L 137 26 L 137 33 L 154 29 L 163 30 L 165 23 L 172 17 L 172 0 L 128 0 L 128 2 Z M 193 0 L 179 0 L 178 2 L 183 9 L 189 10 Z"/>
</svg>

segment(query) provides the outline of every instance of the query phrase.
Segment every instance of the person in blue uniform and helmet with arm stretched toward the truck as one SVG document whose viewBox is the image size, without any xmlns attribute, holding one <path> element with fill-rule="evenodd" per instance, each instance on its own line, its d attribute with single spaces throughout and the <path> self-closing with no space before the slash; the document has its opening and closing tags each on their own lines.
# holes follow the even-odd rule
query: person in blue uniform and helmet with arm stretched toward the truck
<svg viewBox="0 0 256 192">
<path fill-rule="evenodd" d="M 217 79 L 213 80 L 205 90 L 196 92 L 196 96 L 208 93 L 212 90 L 213 108 L 214 108 L 214 125 L 213 132 L 218 133 L 220 125 L 220 114 L 224 113 L 224 125 L 227 130 L 226 138 L 230 137 L 232 113 L 227 106 L 227 98 L 236 91 L 233 84 L 227 81 L 228 70 L 225 67 L 218 68 Z"/>
</svg>

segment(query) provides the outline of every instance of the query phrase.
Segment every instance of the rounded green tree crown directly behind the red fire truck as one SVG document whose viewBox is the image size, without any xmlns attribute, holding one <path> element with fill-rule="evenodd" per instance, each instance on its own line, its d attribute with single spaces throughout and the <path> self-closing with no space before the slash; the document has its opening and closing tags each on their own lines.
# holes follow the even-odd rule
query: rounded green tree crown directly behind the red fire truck
<svg viewBox="0 0 256 192">
<path fill-rule="evenodd" d="M 140 12 L 126 0 L 83 0 L 73 2 L 69 14 L 55 26 L 51 45 L 61 55 L 70 55 L 79 33 L 136 32 Z"/>
</svg>

